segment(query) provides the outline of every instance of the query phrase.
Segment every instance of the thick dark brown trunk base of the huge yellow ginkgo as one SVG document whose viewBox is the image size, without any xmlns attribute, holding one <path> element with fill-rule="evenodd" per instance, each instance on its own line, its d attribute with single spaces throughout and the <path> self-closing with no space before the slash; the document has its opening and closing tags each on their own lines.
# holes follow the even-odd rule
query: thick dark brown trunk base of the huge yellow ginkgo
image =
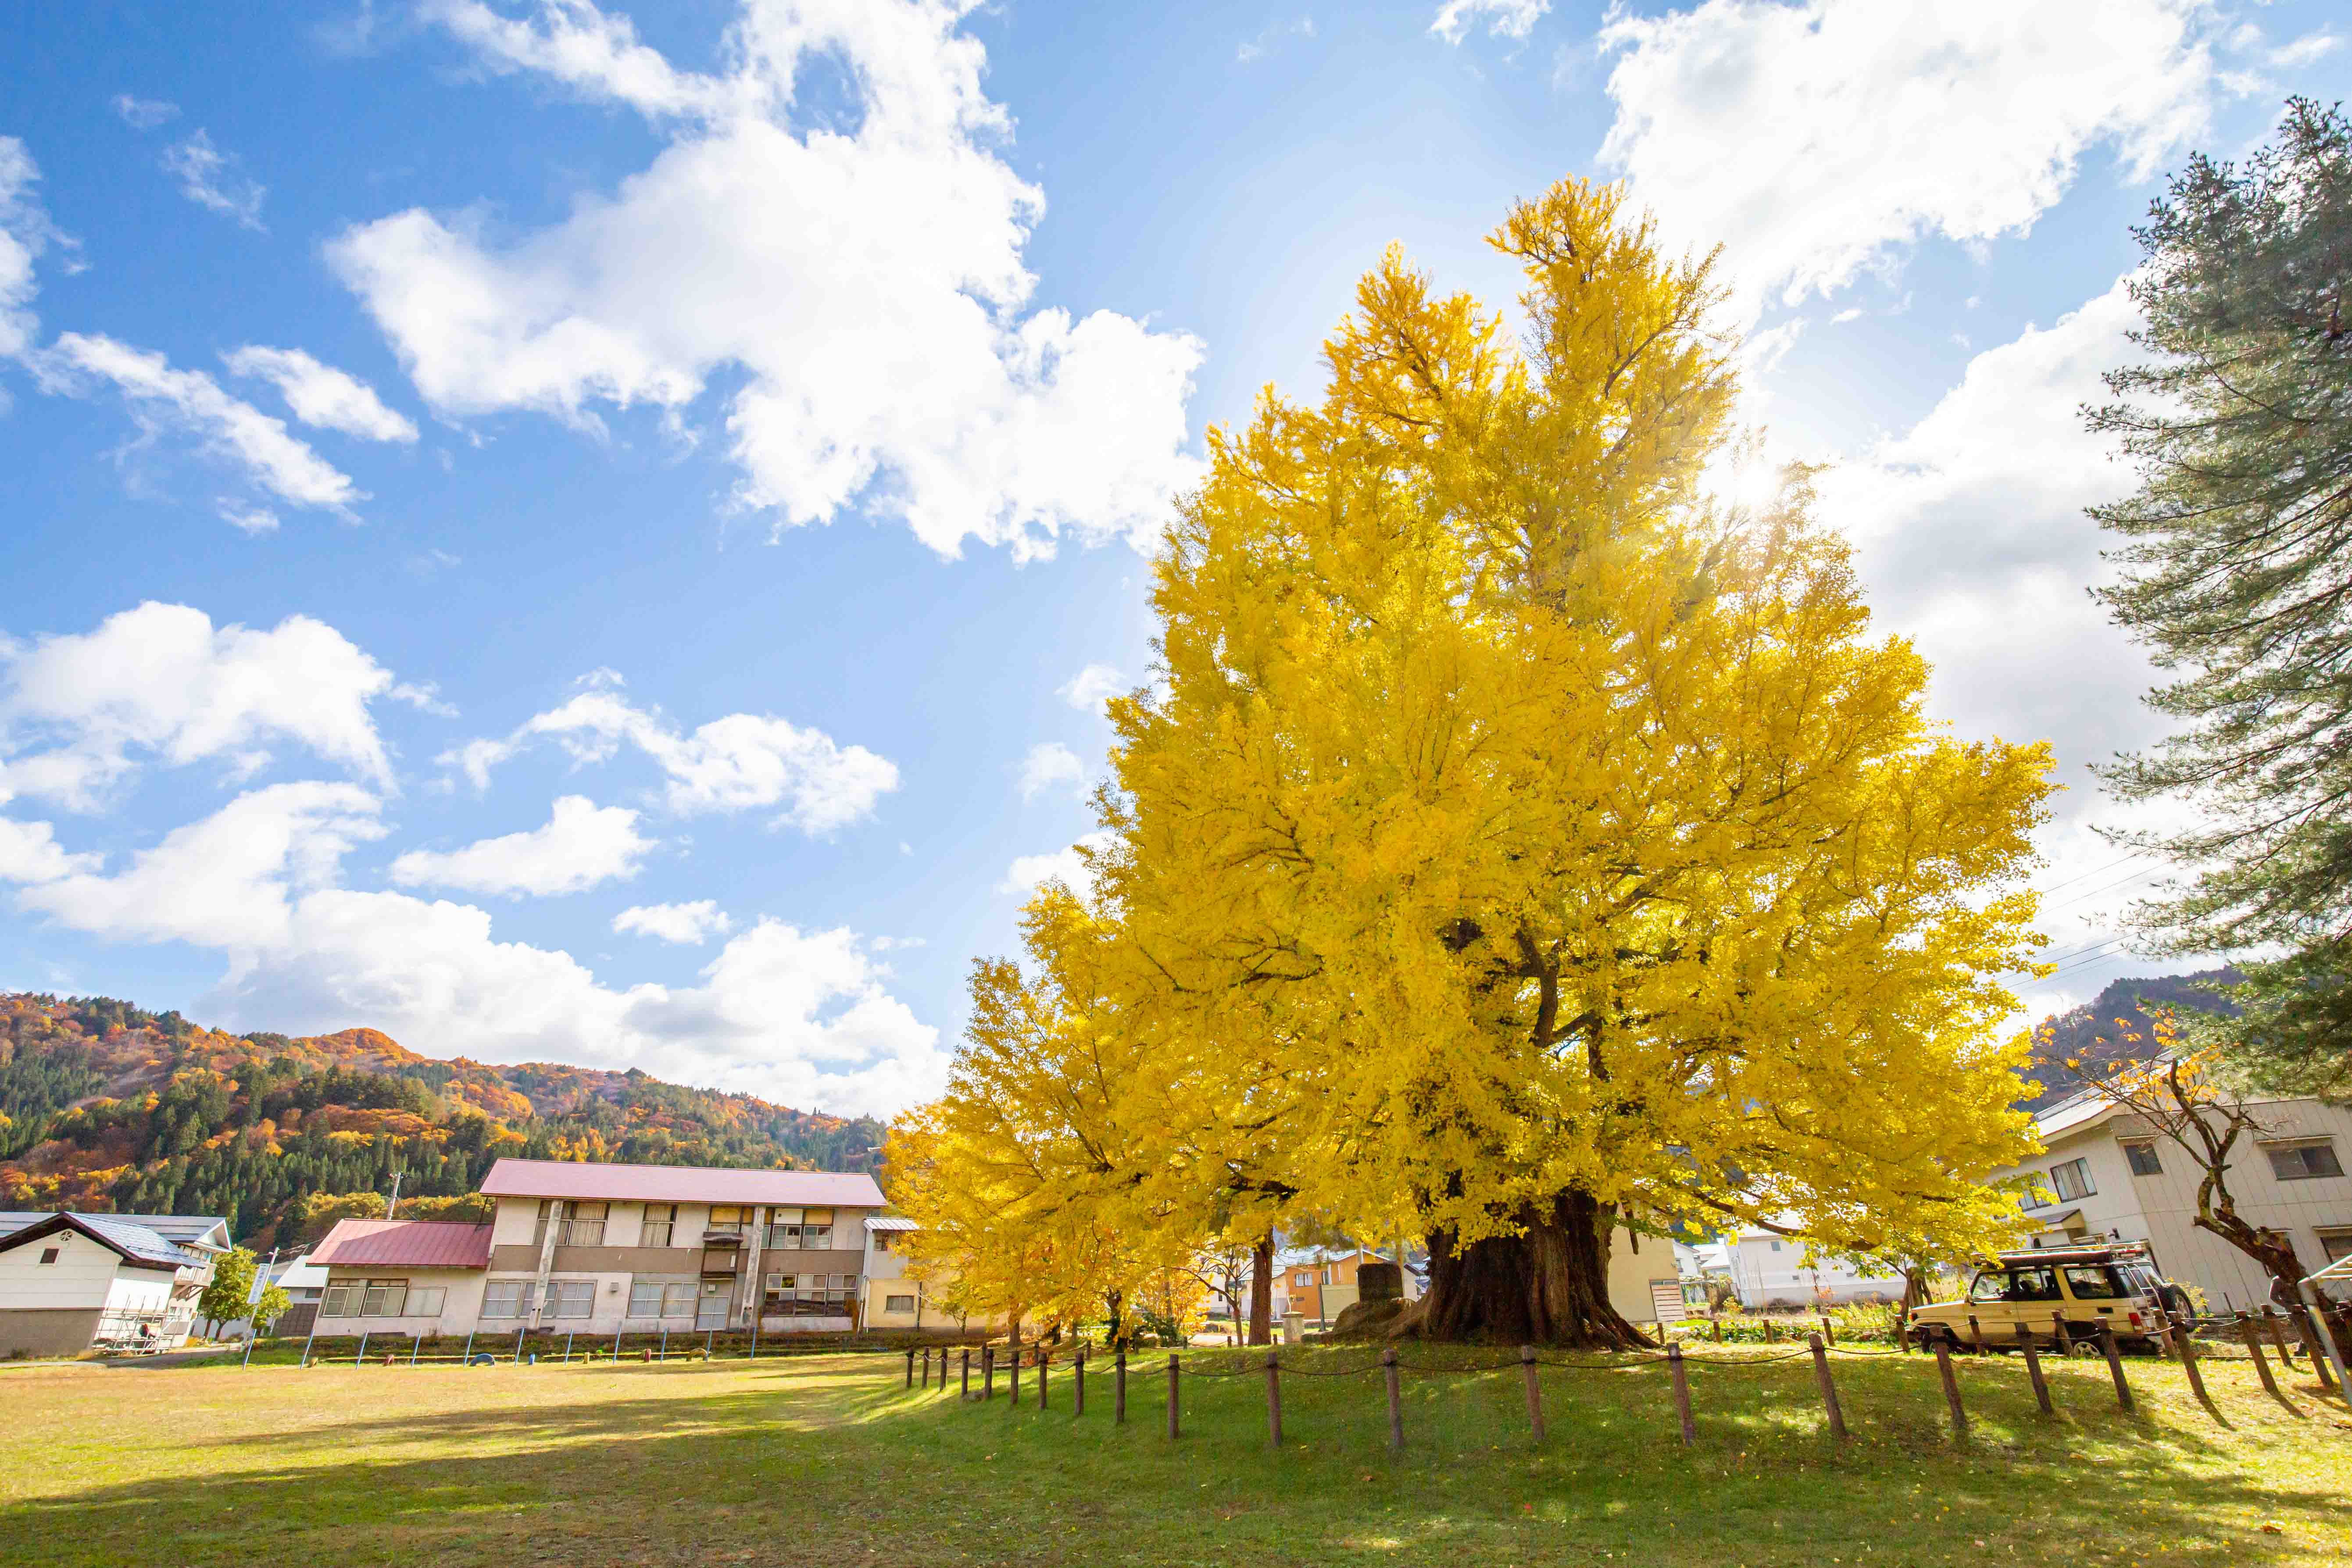
<svg viewBox="0 0 2352 1568">
<path fill-rule="evenodd" d="M 1597 1345 L 1637 1349 L 1651 1340 L 1609 1305 L 1613 1211 L 1588 1192 L 1562 1192 L 1519 1213 L 1517 1237 L 1456 1251 L 1430 1232 L 1430 1293 L 1397 1321 L 1423 1340 L 1486 1345 Z"/>
</svg>

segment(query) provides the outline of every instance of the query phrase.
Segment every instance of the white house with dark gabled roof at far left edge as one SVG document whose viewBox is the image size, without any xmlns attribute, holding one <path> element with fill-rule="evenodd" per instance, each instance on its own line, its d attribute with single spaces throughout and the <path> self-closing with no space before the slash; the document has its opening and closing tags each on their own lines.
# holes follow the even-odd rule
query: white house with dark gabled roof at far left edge
<svg viewBox="0 0 2352 1568">
<path fill-rule="evenodd" d="M 47 1213 L 16 1225 L 0 1234 L 0 1356 L 176 1349 L 226 1251 L 228 1220 L 202 1215 Z"/>
</svg>

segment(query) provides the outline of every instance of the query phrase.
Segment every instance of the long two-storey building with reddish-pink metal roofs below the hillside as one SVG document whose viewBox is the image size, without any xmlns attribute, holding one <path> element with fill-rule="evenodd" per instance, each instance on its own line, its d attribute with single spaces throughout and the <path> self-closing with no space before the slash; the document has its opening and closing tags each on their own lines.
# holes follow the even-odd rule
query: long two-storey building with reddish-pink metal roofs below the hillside
<svg viewBox="0 0 2352 1568">
<path fill-rule="evenodd" d="M 489 1225 L 336 1225 L 318 1333 L 844 1333 L 889 1234 L 863 1173 L 501 1159 L 482 1192 Z"/>
</svg>

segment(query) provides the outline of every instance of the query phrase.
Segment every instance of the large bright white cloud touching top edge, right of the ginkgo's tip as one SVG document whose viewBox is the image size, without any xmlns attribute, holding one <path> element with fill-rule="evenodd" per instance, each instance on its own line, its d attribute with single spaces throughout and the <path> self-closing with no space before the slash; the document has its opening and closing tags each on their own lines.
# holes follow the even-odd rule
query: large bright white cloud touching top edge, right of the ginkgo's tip
<svg viewBox="0 0 2352 1568">
<path fill-rule="evenodd" d="M 1830 294 L 1929 235 L 2032 228 L 2093 148 L 2147 176 L 2220 89 L 2204 0 L 1705 0 L 1599 33 L 1602 148 L 1748 306 Z"/>
</svg>

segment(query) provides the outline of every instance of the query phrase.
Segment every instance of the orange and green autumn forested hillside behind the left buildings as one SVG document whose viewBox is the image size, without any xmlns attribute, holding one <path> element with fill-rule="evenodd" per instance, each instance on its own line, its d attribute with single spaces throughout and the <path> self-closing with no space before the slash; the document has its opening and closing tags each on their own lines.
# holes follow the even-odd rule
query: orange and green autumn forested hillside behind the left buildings
<svg viewBox="0 0 2352 1568">
<path fill-rule="evenodd" d="M 0 994 L 0 1208 L 219 1213 L 292 1239 L 310 1194 L 473 1192 L 501 1154 L 870 1171 L 882 1124 L 642 1072 L 435 1060 L 374 1030 L 226 1034 L 111 997 Z"/>
</svg>

